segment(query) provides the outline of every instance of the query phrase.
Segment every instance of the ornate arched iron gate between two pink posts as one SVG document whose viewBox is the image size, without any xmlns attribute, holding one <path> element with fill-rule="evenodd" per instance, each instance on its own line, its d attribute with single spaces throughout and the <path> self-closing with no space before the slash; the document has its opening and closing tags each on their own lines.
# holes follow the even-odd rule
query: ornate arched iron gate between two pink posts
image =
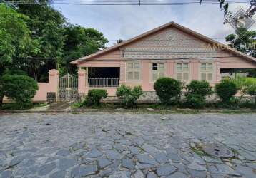
<svg viewBox="0 0 256 178">
<path fill-rule="evenodd" d="M 77 78 L 67 73 L 59 78 L 59 101 L 71 101 L 79 98 Z"/>
</svg>

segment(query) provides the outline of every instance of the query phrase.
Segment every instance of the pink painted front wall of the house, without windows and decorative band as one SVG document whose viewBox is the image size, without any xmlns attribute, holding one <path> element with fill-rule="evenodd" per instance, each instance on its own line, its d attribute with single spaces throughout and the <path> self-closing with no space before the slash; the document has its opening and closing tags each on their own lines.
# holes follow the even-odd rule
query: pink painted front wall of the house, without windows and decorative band
<svg viewBox="0 0 256 178">
<path fill-rule="evenodd" d="M 180 40 L 177 41 L 177 43 L 170 43 L 168 44 L 168 48 L 185 48 L 185 49 L 192 49 L 192 48 L 207 48 L 208 42 L 205 42 L 202 40 L 202 38 L 195 37 L 195 34 L 192 33 L 185 33 L 181 31 L 178 28 L 172 28 L 172 36 L 167 36 L 167 31 L 170 28 L 164 28 L 161 31 L 157 31 L 154 34 L 151 34 L 149 36 L 145 36 L 144 38 L 139 38 L 137 41 L 134 41 L 133 43 L 129 43 L 126 46 L 122 46 L 122 48 L 115 49 L 113 51 L 109 51 L 107 53 L 103 53 L 100 56 L 96 56 L 94 58 L 91 58 L 90 60 L 84 60 L 82 62 L 78 63 L 78 67 L 120 67 L 120 80 L 119 84 L 125 84 L 129 85 L 131 87 L 135 85 L 142 85 L 142 89 L 144 91 L 154 91 L 154 83 L 150 81 L 150 63 L 154 60 L 149 59 L 126 59 L 122 57 L 122 49 L 123 48 L 160 48 L 160 47 L 167 47 L 166 43 L 162 43 L 159 41 L 159 43 L 155 43 L 154 38 L 160 37 L 162 38 L 172 38 L 172 36 L 175 36 L 176 34 L 179 34 L 179 37 L 182 37 L 184 39 L 189 40 Z M 162 35 L 164 34 L 165 37 Z M 152 40 L 153 39 L 153 40 Z M 154 41 L 154 43 L 147 43 L 147 41 Z M 164 39 L 162 39 L 164 40 Z M 145 42 L 146 41 L 146 42 Z M 190 80 L 200 80 L 200 63 L 209 62 L 214 64 L 214 76 L 211 85 L 215 85 L 215 83 L 220 82 L 220 69 L 221 68 L 256 68 L 256 63 L 249 61 L 242 57 L 232 57 L 232 58 L 226 58 L 225 56 L 234 56 L 233 53 L 227 52 L 227 51 L 216 51 L 216 55 L 218 58 L 189 58 L 184 60 L 162 60 L 166 64 L 166 71 L 165 76 L 170 78 L 176 78 L 176 63 L 180 62 L 186 62 L 189 63 L 189 76 Z M 224 57 L 223 57 L 224 56 Z M 222 57 L 222 58 L 220 58 Z M 126 62 L 129 61 L 140 61 L 142 68 L 142 80 L 139 82 L 129 82 L 126 80 Z M 84 87 L 84 80 L 87 80 L 86 75 L 84 75 L 85 78 L 79 79 L 79 81 L 82 82 L 81 85 L 79 85 L 79 92 L 81 93 L 87 93 L 90 88 Z M 86 83 L 85 83 L 86 85 Z M 109 91 L 109 95 L 114 95 L 116 88 L 105 88 Z"/>
</svg>

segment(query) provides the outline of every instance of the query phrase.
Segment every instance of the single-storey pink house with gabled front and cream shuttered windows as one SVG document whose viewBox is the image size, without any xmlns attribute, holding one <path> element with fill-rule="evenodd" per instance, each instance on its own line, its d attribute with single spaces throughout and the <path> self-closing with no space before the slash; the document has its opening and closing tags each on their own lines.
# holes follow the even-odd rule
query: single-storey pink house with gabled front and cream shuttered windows
<svg viewBox="0 0 256 178">
<path fill-rule="evenodd" d="M 104 88 L 114 96 L 121 84 L 142 85 L 144 92 L 152 92 L 154 81 L 163 76 L 214 85 L 222 73 L 256 68 L 256 59 L 170 22 L 72 64 L 79 68 L 79 93 Z"/>
</svg>

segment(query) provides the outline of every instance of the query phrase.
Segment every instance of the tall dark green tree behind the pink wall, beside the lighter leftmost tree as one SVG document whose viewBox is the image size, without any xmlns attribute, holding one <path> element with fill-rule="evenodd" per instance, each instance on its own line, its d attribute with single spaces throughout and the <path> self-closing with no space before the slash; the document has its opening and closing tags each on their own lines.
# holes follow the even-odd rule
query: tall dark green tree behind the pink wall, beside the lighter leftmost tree
<svg viewBox="0 0 256 178">
<path fill-rule="evenodd" d="M 25 0 L 32 4 L 16 4 L 16 11 L 29 17 L 26 21 L 31 31 L 34 48 L 26 56 L 15 56 L 15 66 L 26 70 L 36 80 L 46 80 L 48 70 L 59 68 L 63 57 L 64 26 L 66 19 L 56 11 L 50 1 Z"/>
</svg>

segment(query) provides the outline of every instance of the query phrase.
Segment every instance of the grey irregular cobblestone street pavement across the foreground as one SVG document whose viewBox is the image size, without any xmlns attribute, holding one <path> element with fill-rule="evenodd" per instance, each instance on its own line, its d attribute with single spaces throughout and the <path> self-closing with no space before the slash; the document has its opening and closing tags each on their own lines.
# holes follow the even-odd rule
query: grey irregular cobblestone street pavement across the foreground
<svg viewBox="0 0 256 178">
<path fill-rule="evenodd" d="M 235 157 L 200 150 L 220 142 Z M 0 115 L 0 177 L 256 177 L 256 115 Z"/>
</svg>

